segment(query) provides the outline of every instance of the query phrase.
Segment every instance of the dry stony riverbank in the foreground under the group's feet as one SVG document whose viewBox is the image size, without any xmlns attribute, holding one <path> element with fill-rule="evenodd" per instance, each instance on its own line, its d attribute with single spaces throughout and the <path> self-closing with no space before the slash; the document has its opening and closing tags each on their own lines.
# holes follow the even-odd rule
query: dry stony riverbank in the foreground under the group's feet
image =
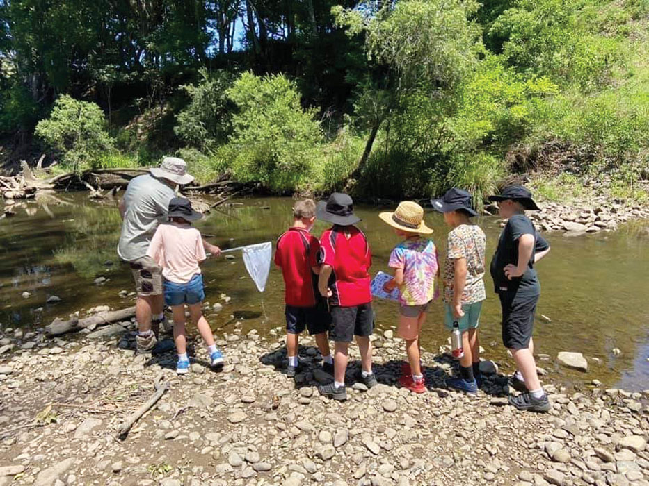
<svg viewBox="0 0 649 486">
<path fill-rule="evenodd" d="M 281 328 L 266 340 L 235 325 L 218 335 L 225 367 L 207 368 L 197 345 L 184 377 L 173 351 L 135 356 L 133 333 L 33 335 L 0 351 L 0 485 L 649 485 L 649 391 L 546 383 L 552 412 L 526 414 L 506 405 L 491 362 L 472 399 L 443 389 L 447 354 L 424 353 L 428 392 L 415 395 L 396 386 L 403 344 L 388 330 L 375 340 L 380 385 L 350 380 L 338 403 L 317 393 L 331 378 L 311 340 L 304 371 L 282 374 Z M 120 440 L 160 375 L 170 389 Z"/>
</svg>

